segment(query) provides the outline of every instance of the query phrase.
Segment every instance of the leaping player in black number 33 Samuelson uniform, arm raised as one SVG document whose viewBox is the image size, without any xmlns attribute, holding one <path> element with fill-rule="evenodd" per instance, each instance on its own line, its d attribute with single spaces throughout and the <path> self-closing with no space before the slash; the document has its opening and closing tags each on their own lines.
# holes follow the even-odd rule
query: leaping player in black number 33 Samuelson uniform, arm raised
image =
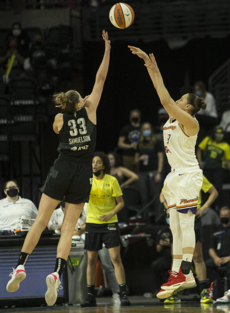
<svg viewBox="0 0 230 313">
<path fill-rule="evenodd" d="M 70 252 L 74 228 L 85 202 L 89 201 L 93 179 L 92 156 L 96 142 L 96 109 L 101 98 L 110 56 L 110 40 L 105 30 L 102 31 L 102 37 L 105 41 L 105 53 L 91 94 L 84 99 L 75 90 L 54 95 L 56 106 L 63 112 L 55 116 L 53 124 L 55 133 L 59 134 L 60 155 L 40 188 L 42 197 L 37 218 L 25 238 L 18 264 L 9 275 L 11 279 L 6 287 L 8 292 L 18 290 L 19 283 L 26 277 L 24 266 L 29 255 L 37 245 L 51 214 L 65 197 L 65 215 L 57 247 L 55 269 L 54 273 L 46 277 L 48 290 L 45 300 L 48 305 L 55 304 L 57 299 L 60 276 Z"/>
</svg>

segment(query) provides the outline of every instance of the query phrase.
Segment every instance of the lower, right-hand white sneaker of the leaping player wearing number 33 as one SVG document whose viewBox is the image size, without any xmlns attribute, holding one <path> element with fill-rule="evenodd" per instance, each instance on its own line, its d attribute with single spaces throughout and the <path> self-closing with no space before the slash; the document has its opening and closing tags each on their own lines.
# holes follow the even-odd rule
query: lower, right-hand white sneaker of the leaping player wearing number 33
<svg viewBox="0 0 230 313">
<path fill-rule="evenodd" d="M 54 305 L 57 300 L 58 289 L 62 289 L 61 282 L 57 272 L 46 277 L 47 291 L 45 293 L 45 301 L 47 305 Z"/>
</svg>

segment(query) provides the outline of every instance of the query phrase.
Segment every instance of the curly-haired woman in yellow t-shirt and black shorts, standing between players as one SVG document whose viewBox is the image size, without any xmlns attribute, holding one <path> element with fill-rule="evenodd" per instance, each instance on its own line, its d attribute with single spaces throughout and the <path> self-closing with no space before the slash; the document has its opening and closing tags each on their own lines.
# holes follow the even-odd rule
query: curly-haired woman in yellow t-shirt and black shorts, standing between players
<svg viewBox="0 0 230 313">
<path fill-rule="evenodd" d="M 120 256 L 120 231 L 117 213 L 124 207 L 122 191 L 117 179 L 109 173 L 109 159 L 103 152 L 95 152 L 92 161 L 92 188 L 87 204 L 86 238 L 88 295 L 82 307 L 96 306 L 94 285 L 98 250 L 104 243 L 109 250 L 115 276 L 120 287 L 121 305 L 130 305 L 126 290 L 124 267 Z"/>
</svg>

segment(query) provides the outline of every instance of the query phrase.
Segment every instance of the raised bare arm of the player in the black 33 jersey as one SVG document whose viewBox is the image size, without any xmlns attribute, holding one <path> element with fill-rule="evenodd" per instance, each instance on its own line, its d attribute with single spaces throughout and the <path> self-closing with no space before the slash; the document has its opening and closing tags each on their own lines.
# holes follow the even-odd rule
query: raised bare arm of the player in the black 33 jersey
<svg viewBox="0 0 230 313">
<path fill-rule="evenodd" d="M 108 39 L 108 33 L 103 30 L 102 37 L 105 41 L 105 53 L 102 59 L 102 63 L 97 71 L 95 84 L 93 90 L 86 100 L 85 107 L 89 113 L 96 112 L 98 103 L 101 99 L 104 82 L 107 76 L 110 57 L 110 40 Z"/>
</svg>

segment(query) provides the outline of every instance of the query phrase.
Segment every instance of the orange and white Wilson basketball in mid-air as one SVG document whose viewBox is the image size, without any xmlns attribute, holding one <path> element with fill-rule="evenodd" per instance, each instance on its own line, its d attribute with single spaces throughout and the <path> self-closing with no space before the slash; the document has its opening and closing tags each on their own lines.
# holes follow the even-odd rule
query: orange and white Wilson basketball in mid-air
<svg viewBox="0 0 230 313">
<path fill-rule="evenodd" d="M 116 3 L 109 11 L 109 19 L 113 26 L 127 28 L 134 21 L 133 9 L 126 3 Z"/>
</svg>

